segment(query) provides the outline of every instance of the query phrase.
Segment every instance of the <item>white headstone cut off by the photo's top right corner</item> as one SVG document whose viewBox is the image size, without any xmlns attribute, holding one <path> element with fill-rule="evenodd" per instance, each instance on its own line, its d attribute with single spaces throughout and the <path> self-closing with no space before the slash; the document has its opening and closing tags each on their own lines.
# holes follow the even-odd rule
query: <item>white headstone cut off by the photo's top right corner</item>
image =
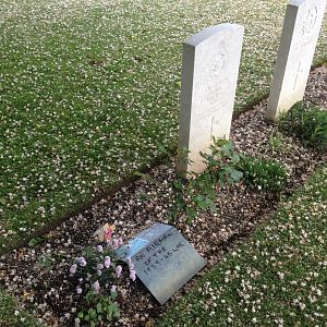
<svg viewBox="0 0 327 327">
<path fill-rule="evenodd" d="M 277 120 L 303 99 L 326 0 L 290 0 L 268 99 L 267 118 Z"/>
</svg>

